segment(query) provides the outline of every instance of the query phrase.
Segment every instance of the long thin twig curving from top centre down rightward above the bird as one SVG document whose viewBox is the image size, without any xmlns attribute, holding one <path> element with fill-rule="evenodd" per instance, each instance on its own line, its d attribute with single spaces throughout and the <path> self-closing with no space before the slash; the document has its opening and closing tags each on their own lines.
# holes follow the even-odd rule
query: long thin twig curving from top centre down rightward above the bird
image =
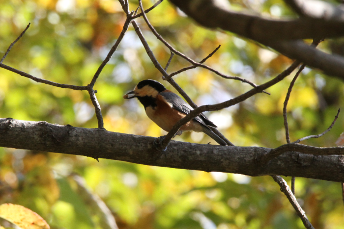
<svg viewBox="0 0 344 229">
<path fill-rule="evenodd" d="M 139 5 L 140 5 L 140 8 L 141 8 L 141 11 L 142 13 L 144 12 L 143 10 L 143 7 L 142 7 L 142 2 L 140 3 L 141 1 L 139 0 Z M 146 24 L 148 25 L 148 27 L 150 28 L 150 30 L 153 32 L 153 34 L 167 47 L 169 48 L 171 51 L 173 51 L 175 54 L 181 56 L 182 58 L 186 59 L 187 61 L 189 61 L 190 63 L 192 63 L 193 65 L 195 65 L 196 67 L 202 67 L 202 68 L 205 68 L 213 73 L 215 73 L 216 75 L 218 76 L 221 76 L 223 78 L 226 78 L 226 79 L 235 79 L 235 80 L 240 80 L 244 83 L 248 83 L 250 84 L 251 86 L 253 87 L 258 87 L 255 83 L 247 80 L 247 79 L 243 79 L 243 78 L 240 78 L 238 76 L 227 76 L 225 74 L 222 74 L 220 73 L 219 71 L 207 66 L 207 65 L 204 65 L 202 63 L 198 63 L 196 62 L 195 60 L 187 57 L 186 55 L 184 55 L 183 53 L 181 53 L 180 51 L 177 51 L 176 49 L 174 49 L 167 41 L 164 40 L 164 38 L 162 38 L 162 36 L 155 30 L 155 28 L 150 24 L 150 22 L 148 21 L 148 18 L 147 16 L 145 15 L 145 13 L 143 13 L 143 18 L 144 18 L 144 21 L 146 22 Z M 196 68 L 195 67 L 195 68 Z M 194 67 L 193 67 L 194 68 Z M 187 70 L 187 69 L 186 69 Z M 185 71 L 185 70 L 184 70 Z M 177 74 L 177 73 L 176 73 Z M 176 75 L 174 74 L 174 75 Z M 164 76 L 163 79 L 164 80 L 169 80 L 172 76 L 174 75 L 170 75 L 170 76 Z M 266 93 L 266 92 L 265 92 Z M 268 93 L 267 93 L 268 94 Z"/>
</svg>

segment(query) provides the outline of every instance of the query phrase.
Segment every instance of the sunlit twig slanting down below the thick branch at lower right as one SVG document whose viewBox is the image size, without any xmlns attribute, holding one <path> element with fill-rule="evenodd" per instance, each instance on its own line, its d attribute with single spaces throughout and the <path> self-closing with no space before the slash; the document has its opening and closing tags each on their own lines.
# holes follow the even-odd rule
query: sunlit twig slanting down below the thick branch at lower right
<svg viewBox="0 0 344 229">
<path fill-rule="evenodd" d="M 300 204 L 297 203 L 297 200 L 295 196 L 292 194 L 289 186 L 287 185 L 287 182 L 281 178 L 280 176 L 271 176 L 281 187 L 281 192 L 283 192 L 286 196 L 290 204 L 293 206 L 293 208 L 296 211 L 296 214 L 300 217 L 303 225 L 307 229 L 314 229 L 311 222 L 308 220 L 305 211 L 301 208 Z"/>
</svg>

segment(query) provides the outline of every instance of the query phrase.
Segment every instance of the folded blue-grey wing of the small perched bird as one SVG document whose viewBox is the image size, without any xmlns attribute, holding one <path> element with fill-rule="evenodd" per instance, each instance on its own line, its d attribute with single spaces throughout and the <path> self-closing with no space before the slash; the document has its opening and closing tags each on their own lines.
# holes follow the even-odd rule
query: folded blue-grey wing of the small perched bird
<svg viewBox="0 0 344 229">
<path fill-rule="evenodd" d="M 161 92 L 160 95 L 162 95 L 167 102 L 172 104 L 172 108 L 176 109 L 177 111 L 180 111 L 184 114 L 190 114 L 190 111 L 192 111 L 194 108 L 192 108 L 187 102 L 185 102 L 182 98 L 180 98 L 177 94 L 171 93 L 171 92 Z M 194 118 L 195 121 L 203 124 L 205 127 L 215 127 L 215 124 L 213 124 L 207 117 L 205 117 L 202 113 Z"/>
</svg>

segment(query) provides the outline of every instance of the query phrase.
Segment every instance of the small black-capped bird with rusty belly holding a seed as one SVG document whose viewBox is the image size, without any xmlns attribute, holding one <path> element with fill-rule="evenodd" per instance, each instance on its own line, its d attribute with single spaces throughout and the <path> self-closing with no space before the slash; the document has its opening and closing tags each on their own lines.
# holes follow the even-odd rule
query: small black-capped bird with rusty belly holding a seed
<svg viewBox="0 0 344 229">
<path fill-rule="evenodd" d="M 156 80 L 145 79 L 135 86 L 134 90 L 123 96 L 124 99 L 138 98 L 144 110 L 156 125 L 169 132 L 176 122 L 184 118 L 193 108 L 178 95 L 167 90 Z M 216 128 L 202 113 L 180 127 L 177 135 L 183 131 L 203 132 L 222 146 L 226 142 L 215 134 L 210 127 Z"/>
</svg>

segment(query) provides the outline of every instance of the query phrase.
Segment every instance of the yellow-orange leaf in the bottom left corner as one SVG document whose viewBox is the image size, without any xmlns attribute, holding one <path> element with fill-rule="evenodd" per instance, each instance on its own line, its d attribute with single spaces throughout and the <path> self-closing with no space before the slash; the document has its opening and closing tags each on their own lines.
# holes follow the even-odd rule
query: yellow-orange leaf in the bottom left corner
<svg viewBox="0 0 344 229">
<path fill-rule="evenodd" d="M 1 204 L 0 217 L 22 229 L 50 229 L 47 222 L 29 208 L 16 204 Z"/>
</svg>

